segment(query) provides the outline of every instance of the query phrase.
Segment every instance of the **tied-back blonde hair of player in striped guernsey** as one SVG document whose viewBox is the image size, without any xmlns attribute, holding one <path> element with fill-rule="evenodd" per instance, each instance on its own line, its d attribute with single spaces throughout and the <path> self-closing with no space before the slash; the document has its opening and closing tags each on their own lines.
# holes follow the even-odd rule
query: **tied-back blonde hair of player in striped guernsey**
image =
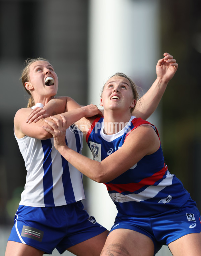
<svg viewBox="0 0 201 256">
<path fill-rule="evenodd" d="M 33 98 L 32 94 L 30 93 L 30 91 L 26 89 L 25 83 L 29 81 L 29 67 L 32 63 L 34 63 L 36 61 L 48 61 L 48 60 L 44 59 L 44 58 L 28 58 L 27 60 L 24 61 L 24 68 L 22 69 L 22 73 L 21 73 L 21 77 L 20 77 L 20 79 L 22 80 L 22 85 L 23 85 L 24 89 L 30 95 L 30 98 L 29 98 L 28 104 L 27 104 L 27 108 L 31 108 L 32 106 L 35 105 L 34 98 Z"/>
</svg>

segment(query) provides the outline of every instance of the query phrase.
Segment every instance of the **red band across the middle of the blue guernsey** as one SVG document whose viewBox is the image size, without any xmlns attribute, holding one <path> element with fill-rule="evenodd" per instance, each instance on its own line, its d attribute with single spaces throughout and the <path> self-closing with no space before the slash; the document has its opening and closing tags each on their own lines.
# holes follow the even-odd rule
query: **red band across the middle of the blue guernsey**
<svg viewBox="0 0 201 256">
<path fill-rule="evenodd" d="M 155 182 L 159 181 L 167 171 L 167 165 L 164 164 L 164 167 L 158 172 L 154 173 L 152 176 L 144 178 L 138 183 L 128 183 L 128 184 L 105 184 L 108 191 L 117 191 L 118 193 L 122 192 L 135 192 L 138 189 L 141 189 L 144 186 L 151 186 Z"/>
</svg>

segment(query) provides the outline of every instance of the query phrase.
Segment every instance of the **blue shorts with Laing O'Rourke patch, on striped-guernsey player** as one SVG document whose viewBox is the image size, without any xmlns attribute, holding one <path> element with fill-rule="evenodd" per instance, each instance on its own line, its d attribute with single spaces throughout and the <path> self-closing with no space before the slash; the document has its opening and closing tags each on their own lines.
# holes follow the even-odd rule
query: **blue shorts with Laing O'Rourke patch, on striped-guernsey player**
<svg viewBox="0 0 201 256">
<path fill-rule="evenodd" d="M 81 201 L 57 207 L 20 205 L 8 241 L 35 247 L 46 254 L 67 248 L 106 231 L 83 209 Z"/>
</svg>

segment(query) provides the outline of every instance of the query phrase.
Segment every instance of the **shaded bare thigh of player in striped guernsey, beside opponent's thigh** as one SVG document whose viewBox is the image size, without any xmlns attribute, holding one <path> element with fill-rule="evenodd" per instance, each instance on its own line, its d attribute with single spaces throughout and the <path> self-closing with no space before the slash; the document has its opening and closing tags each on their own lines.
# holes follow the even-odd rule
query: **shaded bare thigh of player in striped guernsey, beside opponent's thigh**
<svg viewBox="0 0 201 256">
<path fill-rule="evenodd" d="M 77 256 L 99 256 L 105 245 L 108 233 L 109 231 L 107 230 L 95 237 L 74 245 L 67 250 Z"/>
</svg>

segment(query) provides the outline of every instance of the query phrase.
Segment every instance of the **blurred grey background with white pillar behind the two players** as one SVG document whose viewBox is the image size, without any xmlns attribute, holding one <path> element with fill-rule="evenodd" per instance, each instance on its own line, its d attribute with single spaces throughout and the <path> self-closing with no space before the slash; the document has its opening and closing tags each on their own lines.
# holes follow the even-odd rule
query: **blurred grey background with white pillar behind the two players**
<svg viewBox="0 0 201 256">
<path fill-rule="evenodd" d="M 146 92 L 164 52 L 176 58 L 179 68 L 152 120 L 159 128 L 170 172 L 180 178 L 201 209 L 201 2 L 0 0 L 0 255 L 5 253 L 26 177 L 13 134 L 14 115 L 26 107 L 28 99 L 19 81 L 24 60 L 48 59 L 59 78 L 58 95 L 86 105 L 99 104 L 99 90 L 113 69 L 132 76 Z M 125 70 L 116 70 L 124 66 Z M 83 153 L 88 154 L 85 146 Z M 83 181 L 89 199 L 84 202 L 86 210 L 95 217 L 98 206 L 111 212 L 108 205 L 94 206 L 93 185 L 85 177 Z M 108 218 L 107 211 L 101 215 Z M 171 255 L 169 251 L 160 253 L 157 255 Z"/>
</svg>

